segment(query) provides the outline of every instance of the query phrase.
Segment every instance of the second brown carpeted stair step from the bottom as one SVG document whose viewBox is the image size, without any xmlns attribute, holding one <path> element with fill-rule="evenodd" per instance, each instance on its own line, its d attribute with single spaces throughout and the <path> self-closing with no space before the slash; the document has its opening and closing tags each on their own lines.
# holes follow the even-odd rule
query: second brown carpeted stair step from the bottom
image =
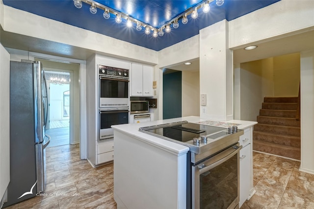
<svg viewBox="0 0 314 209">
<path fill-rule="evenodd" d="M 262 131 L 253 131 L 253 139 L 274 144 L 282 144 L 291 147 L 301 147 L 300 136 L 287 136 L 281 134 L 266 133 Z"/>
</svg>

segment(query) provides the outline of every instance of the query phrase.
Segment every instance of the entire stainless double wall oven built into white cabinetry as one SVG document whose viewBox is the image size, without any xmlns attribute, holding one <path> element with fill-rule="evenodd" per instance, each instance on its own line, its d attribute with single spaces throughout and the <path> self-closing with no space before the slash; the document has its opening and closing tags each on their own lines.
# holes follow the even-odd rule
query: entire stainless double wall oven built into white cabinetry
<svg viewBox="0 0 314 209">
<path fill-rule="evenodd" d="M 99 138 L 113 139 L 112 125 L 129 123 L 129 70 L 99 65 Z"/>
</svg>

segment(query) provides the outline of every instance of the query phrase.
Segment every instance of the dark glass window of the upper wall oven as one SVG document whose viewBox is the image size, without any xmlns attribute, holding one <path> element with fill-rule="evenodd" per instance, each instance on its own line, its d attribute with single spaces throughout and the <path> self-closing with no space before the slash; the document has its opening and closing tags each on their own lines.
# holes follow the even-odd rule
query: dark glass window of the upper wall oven
<svg viewBox="0 0 314 209">
<path fill-rule="evenodd" d="M 100 97 L 101 98 L 128 98 L 128 80 L 101 78 Z"/>
</svg>

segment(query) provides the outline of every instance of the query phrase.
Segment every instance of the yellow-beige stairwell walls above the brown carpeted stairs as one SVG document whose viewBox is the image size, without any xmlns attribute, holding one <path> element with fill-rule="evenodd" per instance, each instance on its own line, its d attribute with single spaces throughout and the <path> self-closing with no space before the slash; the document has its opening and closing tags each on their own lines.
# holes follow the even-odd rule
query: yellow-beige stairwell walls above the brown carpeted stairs
<svg viewBox="0 0 314 209">
<path fill-rule="evenodd" d="M 300 53 L 240 64 L 240 119 L 256 121 L 264 97 L 297 97 Z"/>
</svg>

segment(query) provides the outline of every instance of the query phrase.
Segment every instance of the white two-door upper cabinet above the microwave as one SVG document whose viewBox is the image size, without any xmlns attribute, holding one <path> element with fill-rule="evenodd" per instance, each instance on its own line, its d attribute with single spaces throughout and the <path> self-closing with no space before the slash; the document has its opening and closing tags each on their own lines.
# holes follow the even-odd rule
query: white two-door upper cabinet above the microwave
<svg viewBox="0 0 314 209">
<path fill-rule="evenodd" d="M 153 97 L 153 73 L 152 66 L 132 63 L 131 65 L 131 96 Z"/>
</svg>

